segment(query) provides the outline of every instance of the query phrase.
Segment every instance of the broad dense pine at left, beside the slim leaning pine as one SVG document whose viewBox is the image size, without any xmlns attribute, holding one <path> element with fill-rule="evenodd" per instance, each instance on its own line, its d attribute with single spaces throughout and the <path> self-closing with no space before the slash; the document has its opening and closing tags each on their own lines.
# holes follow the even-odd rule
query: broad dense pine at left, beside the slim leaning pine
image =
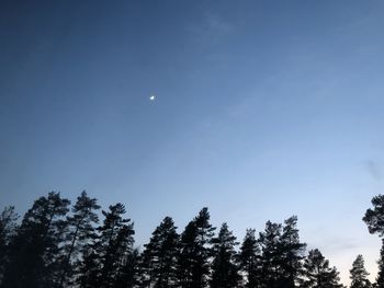
<svg viewBox="0 0 384 288">
<path fill-rule="evenodd" d="M 68 199 L 52 192 L 41 197 L 25 214 L 18 234 L 10 243 L 10 261 L 5 268 L 4 287 L 55 287 L 58 263 L 67 222 Z"/>
</svg>

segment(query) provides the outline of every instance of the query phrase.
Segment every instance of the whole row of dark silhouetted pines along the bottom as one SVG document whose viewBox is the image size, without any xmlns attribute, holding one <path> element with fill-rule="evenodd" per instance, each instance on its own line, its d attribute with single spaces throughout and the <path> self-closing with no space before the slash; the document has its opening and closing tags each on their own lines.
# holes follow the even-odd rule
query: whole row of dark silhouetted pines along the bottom
<svg viewBox="0 0 384 288">
<path fill-rule="evenodd" d="M 363 218 L 384 235 L 384 196 L 373 198 Z M 4 288 L 341 288 L 339 273 L 319 250 L 306 252 L 297 218 L 248 229 L 237 242 L 227 223 L 210 223 L 203 208 L 181 234 L 162 219 L 143 251 L 123 204 L 102 210 L 86 192 L 70 200 L 52 192 L 19 219 L 14 207 L 0 216 L 0 287 Z M 384 287 L 384 249 L 375 284 L 362 255 L 352 264 L 351 288 Z"/>
</svg>

